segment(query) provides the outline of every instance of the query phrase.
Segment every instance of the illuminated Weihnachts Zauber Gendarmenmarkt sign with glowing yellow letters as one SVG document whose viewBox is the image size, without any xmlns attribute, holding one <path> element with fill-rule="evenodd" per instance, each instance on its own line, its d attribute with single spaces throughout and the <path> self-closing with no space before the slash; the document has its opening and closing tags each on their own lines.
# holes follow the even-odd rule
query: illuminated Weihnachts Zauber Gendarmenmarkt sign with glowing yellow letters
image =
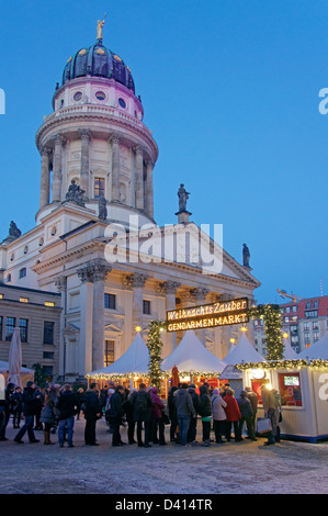
<svg viewBox="0 0 328 516">
<path fill-rule="evenodd" d="M 248 323 L 248 299 L 193 306 L 167 312 L 167 330 L 214 328 Z"/>
</svg>

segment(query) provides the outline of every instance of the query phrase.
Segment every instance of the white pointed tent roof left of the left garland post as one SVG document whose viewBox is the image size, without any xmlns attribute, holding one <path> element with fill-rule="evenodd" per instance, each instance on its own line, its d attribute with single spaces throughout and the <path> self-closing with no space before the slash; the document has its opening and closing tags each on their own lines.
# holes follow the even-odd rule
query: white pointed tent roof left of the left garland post
<svg viewBox="0 0 328 516">
<path fill-rule="evenodd" d="M 146 377 L 149 375 L 149 350 L 142 335 L 136 334 L 128 349 L 110 366 L 88 372 L 87 378 Z"/>
</svg>

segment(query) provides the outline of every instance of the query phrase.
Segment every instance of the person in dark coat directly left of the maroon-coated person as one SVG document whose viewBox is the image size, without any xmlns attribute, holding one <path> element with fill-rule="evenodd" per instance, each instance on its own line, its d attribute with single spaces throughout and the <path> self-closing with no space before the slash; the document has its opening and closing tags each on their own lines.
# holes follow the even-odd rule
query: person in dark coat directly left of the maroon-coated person
<svg viewBox="0 0 328 516">
<path fill-rule="evenodd" d="M 152 400 L 151 400 L 150 393 L 146 391 L 145 383 L 140 383 L 139 390 L 132 394 L 131 403 L 133 406 L 133 417 L 137 424 L 138 446 L 150 448 L 149 438 L 150 438 L 150 419 L 151 419 Z M 142 437 L 143 424 L 145 425 L 145 442 L 143 442 L 143 437 Z"/>
</svg>

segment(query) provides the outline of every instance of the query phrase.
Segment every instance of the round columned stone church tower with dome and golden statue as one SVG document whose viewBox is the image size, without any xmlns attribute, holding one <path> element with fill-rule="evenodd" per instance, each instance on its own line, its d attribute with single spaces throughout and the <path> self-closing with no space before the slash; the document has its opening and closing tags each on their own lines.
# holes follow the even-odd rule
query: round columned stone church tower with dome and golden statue
<svg viewBox="0 0 328 516">
<path fill-rule="evenodd" d="M 36 134 L 42 156 L 39 210 L 36 221 L 66 200 L 71 184 L 82 191 L 83 205 L 99 215 L 106 201 L 106 220 L 127 226 L 154 224 L 152 169 L 158 147 L 143 123 L 132 72 L 103 45 L 103 23 L 97 41 L 69 57 L 53 97 L 54 112 Z M 72 183 L 73 181 L 73 183 Z"/>
</svg>

